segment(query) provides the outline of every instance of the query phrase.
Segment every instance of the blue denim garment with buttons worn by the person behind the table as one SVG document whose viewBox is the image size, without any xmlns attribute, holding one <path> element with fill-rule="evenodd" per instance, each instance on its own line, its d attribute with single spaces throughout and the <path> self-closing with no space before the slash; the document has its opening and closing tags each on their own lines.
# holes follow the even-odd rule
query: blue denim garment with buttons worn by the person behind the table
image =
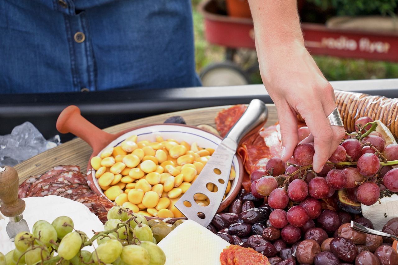
<svg viewBox="0 0 398 265">
<path fill-rule="evenodd" d="M 0 93 L 199 86 L 191 0 L 0 0 Z"/>
</svg>

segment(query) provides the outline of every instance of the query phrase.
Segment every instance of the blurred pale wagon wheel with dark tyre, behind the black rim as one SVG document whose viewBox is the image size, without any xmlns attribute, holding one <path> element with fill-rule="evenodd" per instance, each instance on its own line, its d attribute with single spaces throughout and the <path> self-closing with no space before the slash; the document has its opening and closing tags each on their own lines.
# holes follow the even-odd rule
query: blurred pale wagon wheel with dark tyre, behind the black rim
<svg viewBox="0 0 398 265">
<path fill-rule="evenodd" d="M 234 62 L 210 64 L 200 74 L 203 86 L 238 86 L 250 84 L 250 78 Z"/>
</svg>

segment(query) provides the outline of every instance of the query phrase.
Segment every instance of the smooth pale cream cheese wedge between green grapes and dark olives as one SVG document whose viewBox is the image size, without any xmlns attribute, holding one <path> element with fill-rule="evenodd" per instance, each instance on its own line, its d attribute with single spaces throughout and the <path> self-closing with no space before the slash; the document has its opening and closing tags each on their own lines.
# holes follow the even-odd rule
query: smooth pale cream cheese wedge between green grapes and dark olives
<svg viewBox="0 0 398 265">
<path fill-rule="evenodd" d="M 230 244 L 195 221 L 186 220 L 158 243 L 165 265 L 217 265 Z"/>
</svg>

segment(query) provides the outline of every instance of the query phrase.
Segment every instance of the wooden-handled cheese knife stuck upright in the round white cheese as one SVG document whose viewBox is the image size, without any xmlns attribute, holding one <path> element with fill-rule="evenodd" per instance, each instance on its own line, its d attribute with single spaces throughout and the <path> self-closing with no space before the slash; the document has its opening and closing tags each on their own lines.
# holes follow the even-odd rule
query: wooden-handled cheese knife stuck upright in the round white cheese
<svg viewBox="0 0 398 265">
<path fill-rule="evenodd" d="M 0 212 L 10 218 L 6 231 L 13 240 L 19 232 L 29 232 L 29 227 L 22 216 L 25 201 L 18 199 L 18 184 L 17 171 L 9 166 L 0 166 L 0 199 L 3 201 Z"/>
</svg>

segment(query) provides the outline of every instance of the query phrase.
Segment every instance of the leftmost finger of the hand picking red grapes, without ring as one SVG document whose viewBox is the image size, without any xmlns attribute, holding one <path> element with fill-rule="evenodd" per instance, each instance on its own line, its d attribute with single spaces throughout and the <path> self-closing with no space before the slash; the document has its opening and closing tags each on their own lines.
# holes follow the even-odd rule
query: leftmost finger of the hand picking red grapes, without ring
<svg viewBox="0 0 398 265">
<path fill-rule="evenodd" d="M 297 114 L 293 111 L 287 102 L 282 106 L 278 104 L 279 126 L 281 127 L 281 140 L 282 140 L 282 154 L 283 161 L 289 160 L 293 156 L 293 151 L 297 146 L 298 133 L 297 133 Z"/>
</svg>

